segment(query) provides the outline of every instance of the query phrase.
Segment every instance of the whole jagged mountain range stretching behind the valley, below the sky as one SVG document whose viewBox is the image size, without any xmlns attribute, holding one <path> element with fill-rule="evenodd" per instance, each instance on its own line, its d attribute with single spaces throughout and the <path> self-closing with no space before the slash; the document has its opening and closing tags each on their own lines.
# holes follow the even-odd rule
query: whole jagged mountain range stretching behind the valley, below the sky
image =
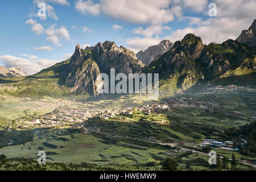
<svg viewBox="0 0 256 182">
<path fill-rule="evenodd" d="M 255 85 L 256 20 L 248 30 L 242 31 L 236 40 L 221 44 L 203 44 L 199 36 L 188 34 L 175 43 L 163 40 L 137 55 L 114 42 L 106 41 L 82 49 L 79 44 L 73 56 L 66 61 L 43 69 L 30 77 L 55 78 L 59 85 L 71 93 L 98 95 L 97 76 L 110 75 L 110 69 L 118 73 L 159 73 L 160 91 L 184 92 L 199 85 L 218 84 L 226 79 L 241 84 Z"/>
</svg>

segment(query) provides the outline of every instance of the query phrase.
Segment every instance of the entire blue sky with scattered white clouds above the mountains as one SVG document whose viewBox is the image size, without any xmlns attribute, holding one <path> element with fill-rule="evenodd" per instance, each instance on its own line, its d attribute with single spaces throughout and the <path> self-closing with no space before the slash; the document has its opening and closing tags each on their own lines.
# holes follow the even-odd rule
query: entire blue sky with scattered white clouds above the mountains
<svg viewBox="0 0 256 182">
<path fill-rule="evenodd" d="M 255 9 L 255 0 L 1 0 L 0 65 L 32 75 L 67 60 L 77 43 L 105 40 L 134 52 L 189 33 L 222 43 L 249 28 Z"/>
</svg>

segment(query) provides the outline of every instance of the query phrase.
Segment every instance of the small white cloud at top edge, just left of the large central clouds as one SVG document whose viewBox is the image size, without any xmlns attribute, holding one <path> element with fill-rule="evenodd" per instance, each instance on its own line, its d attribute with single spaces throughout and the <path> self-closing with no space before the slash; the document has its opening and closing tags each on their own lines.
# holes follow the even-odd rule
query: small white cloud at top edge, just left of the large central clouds
<svg viewBox="0 0 256 182">
<path fill-rule="evenodd" d="M 83 14 L 92 14 L 99 15 L 100 14 L 100 5 L 98 3 L 94 4 L 92 1 L 82 1 L 79 0 L 76 2 L 76 10 Z"/>
</svg>

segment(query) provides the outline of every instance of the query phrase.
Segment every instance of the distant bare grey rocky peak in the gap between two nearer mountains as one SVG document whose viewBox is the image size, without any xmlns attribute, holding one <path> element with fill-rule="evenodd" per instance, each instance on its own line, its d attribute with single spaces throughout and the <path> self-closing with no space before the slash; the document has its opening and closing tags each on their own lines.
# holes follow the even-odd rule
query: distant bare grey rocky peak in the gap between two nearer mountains
<svg viewBox="0 0 256 182">
<path fill-rule="evenodd" d="M 174 43 L 170 42 L 170 40 L 163 40 L 158 45 L 150 46 L 146 50 L 139 51 L 137 57 L 142 63 L 148 65 L 157 56 L 163 55 L 163 53 L 169 51 L 173 45 Z"/>
</svg>

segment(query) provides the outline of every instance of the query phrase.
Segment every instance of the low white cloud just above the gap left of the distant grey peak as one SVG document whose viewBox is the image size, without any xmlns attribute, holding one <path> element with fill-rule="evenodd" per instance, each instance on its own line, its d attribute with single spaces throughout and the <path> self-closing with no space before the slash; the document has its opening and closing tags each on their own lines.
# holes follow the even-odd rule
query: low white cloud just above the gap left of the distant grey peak
<svg viewBox="0 0 256 182">
<path fill-rule="evenodd" d="M 127 47 L 135 52 L 147 49 L 150 46 L 159 44 L 159 37 L 155 38 L 129 38 L 126 40 Z"/>
</svg>

